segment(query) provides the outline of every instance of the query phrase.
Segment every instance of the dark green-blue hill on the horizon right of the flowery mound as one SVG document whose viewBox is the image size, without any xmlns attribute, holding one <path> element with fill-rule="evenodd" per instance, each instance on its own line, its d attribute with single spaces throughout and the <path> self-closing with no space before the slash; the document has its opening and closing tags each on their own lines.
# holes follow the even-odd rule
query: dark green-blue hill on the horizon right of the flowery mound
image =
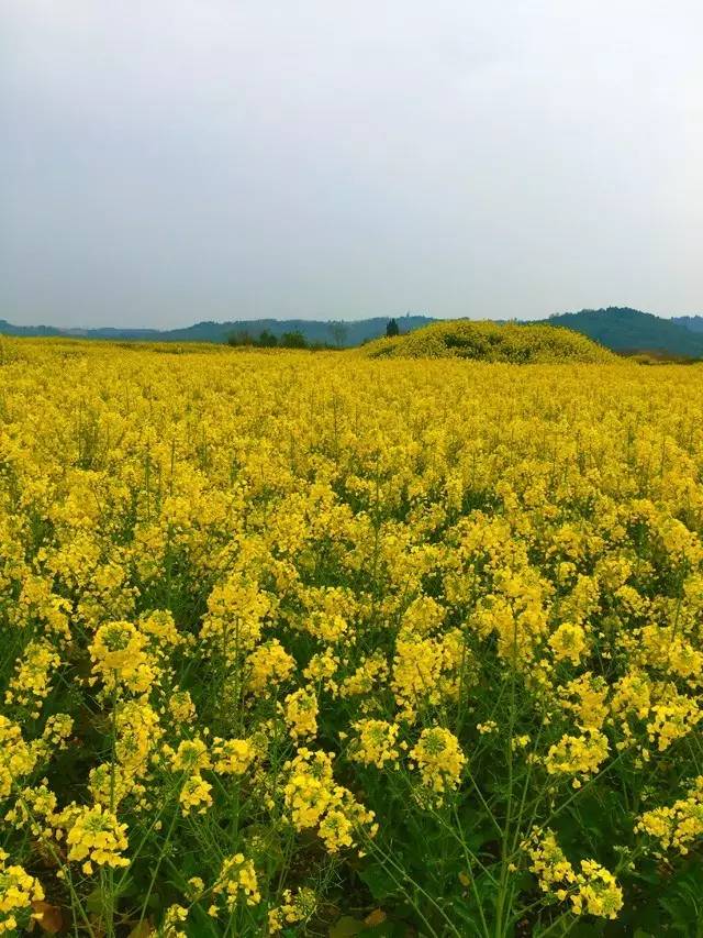
<svg viewBox="0 0 703 938">
<path fill-rule="evenodd" d="M 662 319 L 651 312 L 611 306 L 556 313 L 543 322 L 581 332 L 614 352 L 663 352 L 700 358 L 703 357 L 703 324 L 700 331 L 693 331 L 681 322 L 691 318 L 700 317 Z"/>
</svg>

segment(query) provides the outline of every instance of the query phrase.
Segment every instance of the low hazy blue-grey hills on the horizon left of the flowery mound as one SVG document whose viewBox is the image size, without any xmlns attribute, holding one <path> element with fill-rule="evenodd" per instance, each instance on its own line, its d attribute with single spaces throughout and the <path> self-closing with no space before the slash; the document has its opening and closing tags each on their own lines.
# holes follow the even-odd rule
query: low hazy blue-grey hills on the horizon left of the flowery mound
<svg viewBox="0 0 703 938">
<path fill-rule="evenodd" d="M 197 322 L 183 329 L 119 329 L 104 327 L 99 329 L 59 329 L 55 325 L 13 325 L 0 319 L 0 334 L 65 336 L 74 339 L 103 339 L 112 341 L 137 342 L 226 342 L 233 333 L 248 332 L 259 335 L 268 330 L 277 338 L 284 332 L 301 332 L 308 342 L 330 342 L 344 346 L 360 345 L 365 341 L 386 335 L 386 327 L 391 317 L 373 317 L 357 321 L 319 319 L 254 319 L 233 322 Z M 428 316 L 394 317 L 401 332 L 412 332 L 431 322 Z"/>
</svg>

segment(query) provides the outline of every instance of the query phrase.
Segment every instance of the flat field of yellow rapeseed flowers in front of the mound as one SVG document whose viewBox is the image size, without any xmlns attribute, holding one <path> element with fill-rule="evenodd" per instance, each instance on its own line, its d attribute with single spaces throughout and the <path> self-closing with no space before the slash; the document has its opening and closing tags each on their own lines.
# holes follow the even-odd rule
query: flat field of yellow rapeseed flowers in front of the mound
<svg viewBox="0 0 703 938">
<path fill-rule="evenodd" d="M 0 933 L 703 935 L 703 368 L 1 340 Z"/>
</svg>

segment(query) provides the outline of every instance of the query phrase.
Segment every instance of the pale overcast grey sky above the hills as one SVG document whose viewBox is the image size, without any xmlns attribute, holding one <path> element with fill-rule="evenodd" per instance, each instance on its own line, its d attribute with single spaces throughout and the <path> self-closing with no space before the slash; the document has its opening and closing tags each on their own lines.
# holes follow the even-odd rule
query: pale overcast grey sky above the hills
<svg viewBox="0 0 703 938">
<path fill-rule="evenodd" d="M 0 318 L 703 313 L 700 0 L 0 0 Z"/>
</svg>

